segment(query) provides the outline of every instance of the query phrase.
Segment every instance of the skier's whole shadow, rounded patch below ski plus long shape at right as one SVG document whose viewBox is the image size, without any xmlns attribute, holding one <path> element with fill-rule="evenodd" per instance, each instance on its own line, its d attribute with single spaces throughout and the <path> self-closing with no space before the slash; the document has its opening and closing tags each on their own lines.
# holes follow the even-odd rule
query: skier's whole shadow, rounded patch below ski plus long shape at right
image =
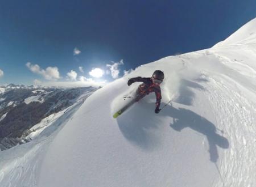
<svg viewBox="0 0 256 187">
<path fill-rule="evenodd" d="M 136 103 L 129 111 L 117 118 L 119 129 L 124 137 L 144 150 L 153 150 L 160 144 L 160 133 L 156 129 L 161 126 L 159 119 L 167 116 L 174 119 L 170 124 L 172 129 L 181 131 L 184 128 L 190 128 L 205 135 L 209 144 L 211 162 L 217 162 L 217 146 L 229 147 L 228 139 L 217 134 L 214 124 L 195 112 L 184 108 L 174 108 L 170 105 L 167 105 L 159 114 L 155 114 L 153 111 L 154 104 L 152 103 Z M 132 117 L 136 120 L 133 120 Z"/>
</svg>

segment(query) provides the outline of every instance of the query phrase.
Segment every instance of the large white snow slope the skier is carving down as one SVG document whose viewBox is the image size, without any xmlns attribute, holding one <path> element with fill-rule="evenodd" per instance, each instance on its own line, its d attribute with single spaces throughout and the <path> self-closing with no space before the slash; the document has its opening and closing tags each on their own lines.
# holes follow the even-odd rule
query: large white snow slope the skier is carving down
<svg viewBox="0 0 256 187">
<path fill-rule="evenodd" d="M 6 166 L 0 184 L 255 186 L 255 33 L 256 19 L 213 48 L 147 63 L 97 90 L 41 151 L 31 149 L 40 157 L 27 156 L 30 179 L 20 183 L 19 165 L 15 177 Z M 172 105 L 155 114 L 151 94 L 114 119 L 139 85 L 128 78 L 156 69 L 166 75 L 161 106 Z"/>
</svg>

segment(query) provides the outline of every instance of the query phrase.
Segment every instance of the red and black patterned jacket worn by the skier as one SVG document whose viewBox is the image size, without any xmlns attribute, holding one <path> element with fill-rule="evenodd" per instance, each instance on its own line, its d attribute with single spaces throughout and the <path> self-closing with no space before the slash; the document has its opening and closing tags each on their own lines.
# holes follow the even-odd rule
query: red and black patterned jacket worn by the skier
<svg viewBox="0 0 256 187">
<path fill-rule="evenodd" d="M 143 82 L 143 84 L 139 85 L 139 88 L 138 88 L 139 95 L 141 95 L 142 97 L 150 94 L 151 92 L 155 92 L 155 97 L 156 97 L 155 107 L 156 108 L 160 107 L 162 95 L 161 95 L 161 88 L 159 84 L 154 84 L 151 78 L 142 78 L 141 76 L 131 78 L 130 80 L 133 82 Z"/>
</svg>

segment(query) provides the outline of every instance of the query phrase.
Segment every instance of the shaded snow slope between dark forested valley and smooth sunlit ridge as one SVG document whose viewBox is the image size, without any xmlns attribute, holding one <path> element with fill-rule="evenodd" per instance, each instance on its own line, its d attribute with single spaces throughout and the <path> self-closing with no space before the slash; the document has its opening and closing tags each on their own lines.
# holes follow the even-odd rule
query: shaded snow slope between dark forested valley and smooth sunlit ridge
<svg viewBox="0 0 256 187">
<path fill-rule="evenodd" d="M 42 162 L 44 153 L 55 134 L 71 119 L 73 113 L 79 109 L 84 100 L 97 88 L 84 90 L 73 105 L 64 110 L 53 113 L 44 118 L 30 130 L 31 134 L 26 139 L 32 139 L 28 143 L 0 151 L 0 186 L 36 186 L 38 168 Z M 77 90 L 69 92 L 76 94 Z M 60 100 L 61 101 L 61 100 Z"/>
</svg>

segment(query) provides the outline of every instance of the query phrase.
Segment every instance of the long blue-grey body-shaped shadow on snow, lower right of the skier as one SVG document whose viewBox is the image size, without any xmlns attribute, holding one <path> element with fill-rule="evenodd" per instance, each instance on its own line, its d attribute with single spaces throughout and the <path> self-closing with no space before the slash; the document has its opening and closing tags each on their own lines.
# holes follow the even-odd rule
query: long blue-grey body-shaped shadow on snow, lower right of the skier
<svg viewBox="0 0 256 187">
<path fill-rule="evenodd" d="M 173 124 L 170 125 L 172 129 L 181 131 L 184 128 L 191 128 L 205 135 L 209 144 L 210 161 L 214 163 L 217 162 L 217 146 L 221 148 L 229 148 L 228 139 L 217 134 L 216 127 L 212 124 L 212 122 L 199 116 L 195 112 L 184 108 L 176 109 L 168 106 L 168 109 L 163 111 L 163 114 L 174 118 Z"/>
</svg>

